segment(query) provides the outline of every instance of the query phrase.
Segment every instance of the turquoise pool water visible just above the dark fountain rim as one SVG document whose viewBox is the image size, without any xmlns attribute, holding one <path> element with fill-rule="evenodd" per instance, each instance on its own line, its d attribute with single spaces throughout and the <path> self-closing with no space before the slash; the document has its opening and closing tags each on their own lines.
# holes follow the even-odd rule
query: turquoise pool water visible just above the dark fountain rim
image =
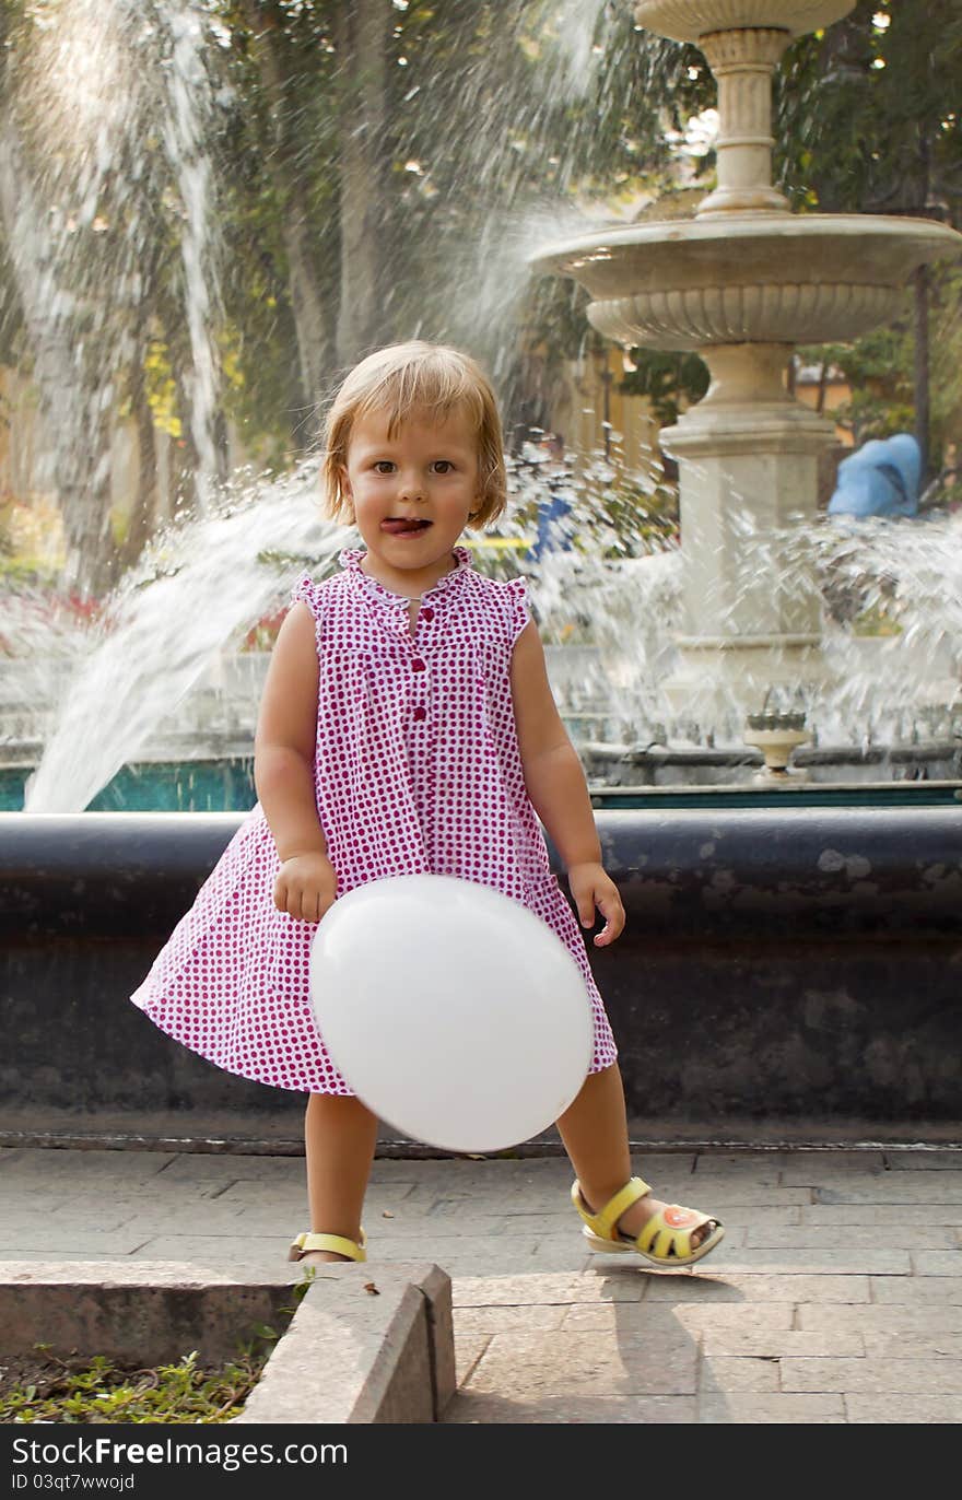
<svg viewBox="0 0 962 1500">
<path fill-rule="evenodd" d="M 30 766 L 0 766 L 0 812 L 21 812 Z M 123 766 L 90 804 L 93 813 L 245 813 L 257 801 L 254 759 L 150 760 Z M 752 786 L 591 788 L 594 807 L 938 807 L 962 806 L 962 782 Z"/>
</svg>

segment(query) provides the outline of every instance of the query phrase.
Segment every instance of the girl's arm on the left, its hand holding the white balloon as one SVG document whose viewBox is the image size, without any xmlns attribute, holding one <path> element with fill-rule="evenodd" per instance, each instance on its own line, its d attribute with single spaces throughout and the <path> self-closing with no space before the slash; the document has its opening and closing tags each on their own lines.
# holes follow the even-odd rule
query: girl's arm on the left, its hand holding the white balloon
<svg viewBox="0 0 962 1500">
<path fill-rule="evenodd" d="M 254 784 L 281 856 L 275 903 L 305 921 L 332 904 L 336 878 L 317 814 L 318 663 L 314 616 L 291 608 L 275 644 L 254 738 Z"/>
</svg>

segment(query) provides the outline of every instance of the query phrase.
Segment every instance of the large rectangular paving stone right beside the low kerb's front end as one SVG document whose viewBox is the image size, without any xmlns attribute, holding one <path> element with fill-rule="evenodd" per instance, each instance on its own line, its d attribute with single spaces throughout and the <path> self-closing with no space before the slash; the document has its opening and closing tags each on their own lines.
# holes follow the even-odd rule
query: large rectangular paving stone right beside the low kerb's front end
<svg viewBox="0 0 962 1500">
<path fill-rule="evenodd" d="M 467 1389 L 528 1401 L 542 1394 L 692 1395 L 696 1364 L 695 1341 L 678 1330 L 627 1340 L 563 1329 L 495 1334 Z"/>
</svg>

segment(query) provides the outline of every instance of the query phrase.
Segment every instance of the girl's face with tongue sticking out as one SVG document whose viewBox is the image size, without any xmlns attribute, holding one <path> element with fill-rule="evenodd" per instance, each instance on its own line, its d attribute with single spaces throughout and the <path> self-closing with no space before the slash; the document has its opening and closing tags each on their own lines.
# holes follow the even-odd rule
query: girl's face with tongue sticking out
<svg viewBox="0 0 962 1500">
<path fill-rule="evenodd" d="M 464 412 L 432 423 L 408 417 L 387 435 L 371 412 L 351 430 L 341 482 L 381 582 L 431 588 L 479 501 L 477 436 Z"/>
</svg>

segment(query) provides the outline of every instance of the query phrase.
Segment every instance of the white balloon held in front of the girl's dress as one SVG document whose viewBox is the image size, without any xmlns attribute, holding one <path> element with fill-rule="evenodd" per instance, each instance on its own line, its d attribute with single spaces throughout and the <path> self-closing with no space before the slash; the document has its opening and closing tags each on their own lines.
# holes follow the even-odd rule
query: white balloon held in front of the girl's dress
<svg viewBox="0 0 962 1500">
<path fill-rule="evenodd" d="M 311 946 L 311 1004 L 357 1098 L 444 1150 L 530 1140 L 591 1065 L 591 1000 L 561 939 L 519 902 L 447 874 L 339 897 Z"/>
</svg>

